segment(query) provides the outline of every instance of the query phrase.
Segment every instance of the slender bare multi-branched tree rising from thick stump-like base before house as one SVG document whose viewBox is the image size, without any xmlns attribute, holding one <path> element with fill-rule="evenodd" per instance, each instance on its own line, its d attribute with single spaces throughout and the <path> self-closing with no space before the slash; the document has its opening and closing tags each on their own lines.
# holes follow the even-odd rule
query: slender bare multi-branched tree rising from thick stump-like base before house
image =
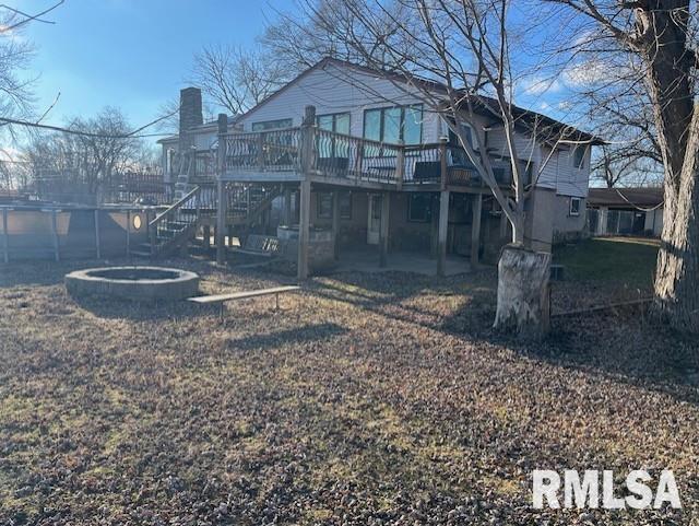
<svg viewBox="0 0 699 526">
<path fill-rule="evenodd" d="M 526 249 L 531 239 L 524 235 L 525 202 L 556 148 L 561 142 L 584 141 L 574 131 L 552 126 L 514 106 L 517 71 L 509 39 L 528 35 L 512 34 L 509 2 L 345 0 L 339 10 L 323 10 L 318 9 L 317 2 L 307 1 L 305 12 L 313 21 L 309 25 L 321 27 L 394 85 L 419 96 L 459 138 L 512 225 L 513 245 L 502 253 L 499 265 L 495 325 L 514 328 L 523 336 L 541 335 L 547 323 L 543 291 L 549 255 L 542 257 Z M 484 113 L 490 117 L 488 120 L 498 122 L 493 127 L 502 133 L 512 174 L 511 191 L 500 187 L 494 160 L 487 154 L 479 118 Z M 473 144 L 469 128 L 478 130 Z M 531 147 L 521 149 L 518 136 L 525 137 Z M 531 165 L 537 140 L 545 140 L 553 148 L 529 180 L 525 166 Z"/>
</svg>

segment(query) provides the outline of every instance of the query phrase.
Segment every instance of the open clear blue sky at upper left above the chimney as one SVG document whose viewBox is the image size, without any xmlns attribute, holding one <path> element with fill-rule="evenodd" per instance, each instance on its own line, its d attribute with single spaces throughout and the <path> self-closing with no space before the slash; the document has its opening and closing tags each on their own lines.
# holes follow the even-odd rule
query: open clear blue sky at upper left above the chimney
<svg viewBox="0 0 699 526">
<path fill-rule="evenodd" d="M 10 0 L 36 13 L 56 0 Z M 192 55 L 206 44 L 254 46 L 256 37 L 291 0 L 66 0 L 46 15 L 55 25 L 32 23 L 23 37 L 36 47 L 31 74 L 43 113 L 62 124 L 120 107 L 133 126 L 157 116 L 191 69 Z"/>
</svg>

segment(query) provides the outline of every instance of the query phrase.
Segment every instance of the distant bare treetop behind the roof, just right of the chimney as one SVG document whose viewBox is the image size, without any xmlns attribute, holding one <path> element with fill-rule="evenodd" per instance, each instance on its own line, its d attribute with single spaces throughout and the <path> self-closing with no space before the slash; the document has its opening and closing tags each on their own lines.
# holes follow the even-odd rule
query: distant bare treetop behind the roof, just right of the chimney
<svg viewBox="0 0 699 526">
<path fill-rule="evenodd" d="M 266 54 L 220 45 L 204 47 L 194 56 L 192 81 L 213 103 L 237 115 L 280 89 L 289 71 Z"/>
</svg>

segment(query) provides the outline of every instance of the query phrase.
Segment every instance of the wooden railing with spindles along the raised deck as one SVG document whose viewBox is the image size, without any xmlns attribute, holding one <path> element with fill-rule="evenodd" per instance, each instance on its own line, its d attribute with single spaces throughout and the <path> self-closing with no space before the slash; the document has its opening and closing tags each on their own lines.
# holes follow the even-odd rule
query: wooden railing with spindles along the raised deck
<svg viewBox="0 0 699 526">
<path fill-rule="evenodd" d="M 306 140 L 305 133 L 310 133 Z M 228 174 L 308 171 L 315 176 L 387 185 L 483 186 L 466 152 L 446 142 L 392 144 L 311 128 L 226 133 L 223 170 Z M 304 144 L 311 144 L 306 159 Z M 215 153 L 202 154 L 202 172 L 215 172 Z M 306 163 L 304 160 L 306 159 Z M 213 164 L 212 164 L 213 163 Z M 200 164 L 197 164 L 199 167 Z M 494 160 L 496 178 L 511 183 L 507 162 Z"/>
</svg>

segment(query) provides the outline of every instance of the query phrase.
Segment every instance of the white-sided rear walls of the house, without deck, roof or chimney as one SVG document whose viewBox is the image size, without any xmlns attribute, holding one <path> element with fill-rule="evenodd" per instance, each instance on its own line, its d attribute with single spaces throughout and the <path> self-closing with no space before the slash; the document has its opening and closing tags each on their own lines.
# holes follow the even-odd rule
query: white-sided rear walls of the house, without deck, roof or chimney
<svg viewBox="0 0 699 526">
<path fill-rule="evenodd" d="M 320 130 L 363 138 L 372 141 L 371 144 L 405 145 L 404 184 L 392 191 L 381 191 L 383 188 L 378 186 L 363 186 L 359 182 L 341 187 L 330 182 L 313 184 L 311 226 L 331 227 L 333 203 L 336 202 L 340 208 L 336 239 L 340 250 L 378 245 L 381 215 L 390 210 L 388 248 L 391 252 L 437 254 L 443 196 L 439 185 L 431 184 L 431 175 L 440 170 L 437 151 L 440 141 L 446 141 L 449 148 L 450 174 L 461 174 L 463 180 L 467 179 L 467 183 L 453 184 L 449 188 L 445 236 L 447 253 L 469 256 L 472 260 L 494 261 L 499 248 L 510 241 L 508 221 L 488 188 L 470 170 L 465 152 L 459 148 L 447 122 L 430 112 L 415 90 L 401 79 L 390 79 L 364 67 L 327 59 L 247 114 L 229 120 L 228 131 L 245 136 L 293 129 L 301 125 L 308 106 L 315 108 L 316 125 Z M 531 118 L 545 119 L 549 126 L 571 129 L 538 114 L 526 114 Z M 582 137 L 582 132 L 576 132 Z M 174 174 L 171 160 L 182 148 L 183 133 L 191 136 L 189 148 L 205 150 L 216 144 L 216 125 L 196 120 L 189 130 L 180 130 L 178 137 L 161 141 L 166 173 Z M 472 137 L 473 144 L 476 143 L 475 133 L 481 135 L 498 182 L 506 191 L 511 191 L 510 160 L 501 124 L 491 112 L 484 110 L 466 133 Z M 331 141 L 332 145 L 319 153 L 319 163 L 322 164 L 323 160 L 328 164 L 352 163 L 347 159 L 347 147 L 341 145 L 341 141 L 335 142 L 335 139 Z M 534 247 L 549 250 L 556 241 L 584 235 L 592 138 L 584 136 L 578 144 L 574 141 L 552 144 L 522 127 L 518 129 L 516 141 L 520 157 L 526 160 L 522 164 L 523 171 L 535 179 L 525 232 Z M 429 145 L 435 147 L 430 150 Z M 395 171 L 394 154 L 369 154 L 368 147 L 364 148 L 365 168 L 370 164 L 378 176 L 382 172 Z M 283 178 L 280 177 L 279 182 L 283 183 Z M 339 194 L 336 201 L 333 200 L 335 192 Z M 280 196 L 274 200 L 266 225 L 270 233 L 284 223 L 285 213 L 291 215 L 287 219 L 292 223 L 298 222 L 298 196 L 293 188 L 288 198 Z M 382 206 L 383 199 L 390 201 L 388 207 Z M 291 211 L 284 211 L 285 203 L 291 204 Z"/>
</svg>

